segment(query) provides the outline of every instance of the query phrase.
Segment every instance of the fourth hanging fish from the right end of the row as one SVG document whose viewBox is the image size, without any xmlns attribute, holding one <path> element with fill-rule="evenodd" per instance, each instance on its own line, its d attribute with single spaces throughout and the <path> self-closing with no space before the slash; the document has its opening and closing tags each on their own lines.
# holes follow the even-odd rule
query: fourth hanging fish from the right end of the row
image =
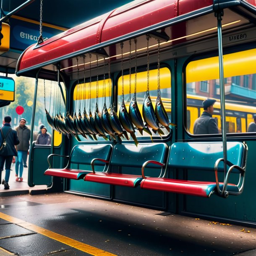
<svg viewBox="0 0 256 256">
<path fill-rule="evenodd" d="M 132 123 L 132 121 L 129 117 L 128 111 L 125 107 L 124 99 L 122 100 L 120 109 L 119 109 L 119 121 L 120 121 L 121 125 L 123 126 L 123 128 L 126 131 L 128 131 L 128 133 L 131 134 L 131 137 L 133 138 L 135 145 L 138 146 L 138 140 L 135 136 L 135 130 L 133 127 L 133 123 Z"/>
</svg>

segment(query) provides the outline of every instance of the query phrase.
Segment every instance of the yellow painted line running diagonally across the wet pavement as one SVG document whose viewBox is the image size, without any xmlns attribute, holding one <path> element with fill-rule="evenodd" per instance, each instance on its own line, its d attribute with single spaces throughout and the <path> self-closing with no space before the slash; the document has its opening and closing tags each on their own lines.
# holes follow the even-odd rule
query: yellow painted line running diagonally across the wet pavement
<svg viewBox="0 0 256 256">
<path fill-rule="evenodd" d="M 0 212 L 0 218 L 5 219 L 5 220 L 7 220 L 9 222 L 12 222 L 14 224 L 17 224 L 21 227 L 24 227 L 24 228 L 28 229 L 28 230 L 32 230 L 32 231 L 37 232 L 41 235 L 44 235 L 44 236 L 47 236 L 47 237 L 52 238 L 54 240 L 57 240 L 61 243 L 65 243 L 68 246 L 76 248 L 80 251 L 84 251 L 84 252 L 89 253 L 91 255 L 95 255 L 95 256 L 99 256 L 99 255 L 100 256 L 115 256 L 115 254 L 109 253 L 107 251 L 103 251 L 103 250 L 98 249 L 98 248 L 93 247 L 93 246 L 89 246 L 85 243 L 78 242 L 78 241 L 73 240 L 71 238 L 68 238 L 66 236 L 57 234 L 57 233 L 52 232 L 50 230 L 46 230 L 42 227 L 38 227 L 34 224 L 26 222 L 22 219 L 17 219 L 15 217 L 9 216 L 9 215 L 4 214 L 2 212 Z"/>
</svg>

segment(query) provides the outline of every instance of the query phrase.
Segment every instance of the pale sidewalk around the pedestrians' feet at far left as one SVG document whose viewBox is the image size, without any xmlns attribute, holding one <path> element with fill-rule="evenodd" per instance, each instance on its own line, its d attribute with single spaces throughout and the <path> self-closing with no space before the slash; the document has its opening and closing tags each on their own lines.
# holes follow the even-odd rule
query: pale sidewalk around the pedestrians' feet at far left
<svg viewBox="0 0 256 256">
<path fill-rule="evenodd" d="M 28 167 L 24 167 L 23 169 L 23 181 L 16 181 L 15 176 L 15 164 L 11 165 L 12 171 L 10 171 L 10 179 L 9 186 L 10 189 L 4 189 L 4 185 L 2 185 L 2 180 L 5 178 L 5 169 L 2 171 L 2 179 L 0 183 L 0 196 L 16 196 L 21 194 L 28 194 L 31 190 L 43 190 L 46 189 L 46 185 L 37 185 L 34 187 L 29 187 L 28 185 Z"/>
</svg>

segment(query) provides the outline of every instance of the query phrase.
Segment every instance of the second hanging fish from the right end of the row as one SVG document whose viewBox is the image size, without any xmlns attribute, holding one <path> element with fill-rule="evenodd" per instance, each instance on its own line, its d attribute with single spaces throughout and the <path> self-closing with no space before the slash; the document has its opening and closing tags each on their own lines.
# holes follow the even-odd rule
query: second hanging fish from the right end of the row
<svg viewBox="0 0 256 256">
<path fill-rule="evenodd" d="M 159 128 L 149 91 L 146 91 L 145 94 L 144 102 L 142 105 L 142 115 L 144 121 L 146 122 L 146 126 L 150 126 L 154 133 L 158 132 L 160 136 L 161 134 L 164 134 L 163 131 Z"/>
</svg>

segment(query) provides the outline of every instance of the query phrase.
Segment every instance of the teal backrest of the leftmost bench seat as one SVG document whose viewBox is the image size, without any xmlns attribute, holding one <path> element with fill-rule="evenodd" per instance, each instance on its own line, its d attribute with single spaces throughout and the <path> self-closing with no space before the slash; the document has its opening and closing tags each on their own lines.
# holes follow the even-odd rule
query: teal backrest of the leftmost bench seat
<svg viewBox="0 0 256 256">
<path fill-rule="evenodd" d="M 91 165 L 91 160 L 94 158 L 108 160 L 111 151 L 111 144 L 76 145 L 71 151 L 69 164 L 76 163 L 81 165 Z M 97 161 L 97 165 L 104 166 L 105 163 Z"/>
</svg>

